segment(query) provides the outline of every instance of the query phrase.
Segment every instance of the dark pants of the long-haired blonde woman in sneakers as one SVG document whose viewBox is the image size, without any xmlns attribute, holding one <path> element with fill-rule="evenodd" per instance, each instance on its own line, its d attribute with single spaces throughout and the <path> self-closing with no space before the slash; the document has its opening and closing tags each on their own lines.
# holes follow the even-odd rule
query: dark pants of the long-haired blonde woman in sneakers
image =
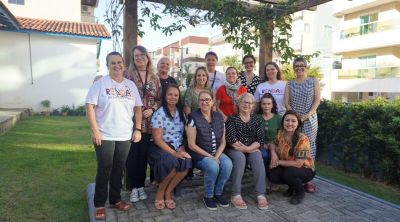
<svg viewBox="0 0 400 222">
<path fill-rule="evenodd" d="M 144 187 L 147 170 L 147 148 L 151 134 L 141 133 L 141 140 L 131 143 L 128 157 L 126 158 L 126 175 L 130 183 L 130 190 Z"/>
</svg>

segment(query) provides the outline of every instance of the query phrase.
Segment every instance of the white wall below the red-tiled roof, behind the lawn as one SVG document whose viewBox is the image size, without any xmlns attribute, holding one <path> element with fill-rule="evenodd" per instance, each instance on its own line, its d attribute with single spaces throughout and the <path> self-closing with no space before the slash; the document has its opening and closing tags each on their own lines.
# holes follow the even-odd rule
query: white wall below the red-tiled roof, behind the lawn
<svg viewBox="0 0 400 222">
<path fill-rule="evenodd" d="M 0 108 L 84 103 L 96 75 L 96 40 L 0 31 Z M 31 71 L 33 84 L 31 79 Z"/>
</svg>

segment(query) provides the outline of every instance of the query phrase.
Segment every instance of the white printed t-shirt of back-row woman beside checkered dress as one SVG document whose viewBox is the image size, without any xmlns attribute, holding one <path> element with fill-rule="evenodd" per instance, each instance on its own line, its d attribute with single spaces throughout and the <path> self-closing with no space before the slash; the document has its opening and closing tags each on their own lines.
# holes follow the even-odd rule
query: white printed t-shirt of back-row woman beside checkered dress
<svg viewBox="0 0 400 222">
<path fill-rule="evenodd" d="M 286 107 L 284 106 L 284 88 L 286 86 L 286 82 L 278 80 L 275 84 L 270 85 L 268 81 L 260 83 L 254 92 L 254 100 L 259 103 L 261 97 L 265 93 L 272 94 L 273 98 L 276 101 L 276 107 L 278 108 L 278 114 L 283 116 L 286 112 Z"/>
</svg>

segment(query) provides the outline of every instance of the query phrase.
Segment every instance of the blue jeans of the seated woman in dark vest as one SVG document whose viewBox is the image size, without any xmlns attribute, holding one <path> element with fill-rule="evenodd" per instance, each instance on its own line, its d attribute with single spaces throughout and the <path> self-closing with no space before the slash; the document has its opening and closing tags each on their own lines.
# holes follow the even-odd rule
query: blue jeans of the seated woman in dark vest
<svg viewBox="0 0 400 222">
<path fill-rule="evenodd" d="M 232 172 L 232 161 L 225 155 L 219 156 L 218 163 L 204 157 L 201 161 L 193 162 L 193 166 L 204 171 L 204 197 L 211 198 L 214 195 L 221 195 L 223 187 Z"/>
</svg>

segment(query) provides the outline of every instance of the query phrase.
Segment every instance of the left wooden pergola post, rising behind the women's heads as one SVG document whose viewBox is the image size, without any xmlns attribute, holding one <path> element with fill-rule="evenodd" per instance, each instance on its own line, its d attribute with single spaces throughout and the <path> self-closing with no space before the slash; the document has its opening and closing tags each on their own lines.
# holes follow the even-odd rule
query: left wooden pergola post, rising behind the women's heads
<svg viewBox="0 0 400 222">
<path fill-rule="evenodd" d="M 123 59 L 129 67 L 133 46 L 137 45 L 137 0 L 125 0 L 123 12 Z"/>
</svg>

